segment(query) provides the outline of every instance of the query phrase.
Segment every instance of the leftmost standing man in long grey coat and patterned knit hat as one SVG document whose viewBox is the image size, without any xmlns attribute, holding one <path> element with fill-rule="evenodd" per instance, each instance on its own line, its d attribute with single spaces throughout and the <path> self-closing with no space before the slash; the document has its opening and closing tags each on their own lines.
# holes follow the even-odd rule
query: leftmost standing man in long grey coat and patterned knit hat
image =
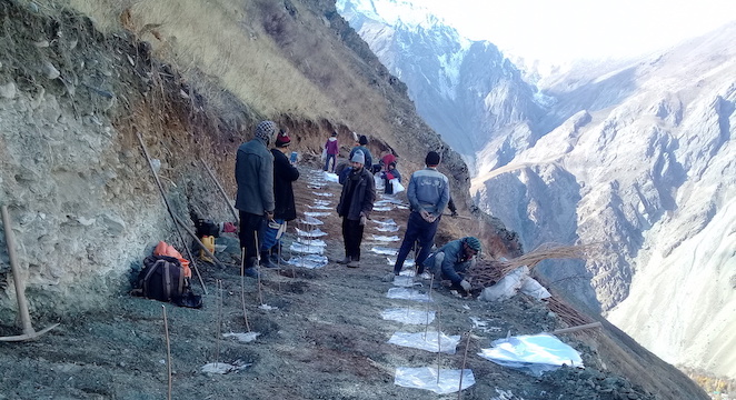
<svg viewBox="0 0 736 400">
<path fill-rule="evenodd" d="M 246 251 L 248 277 L 258 277 L 259 248 L 257 236 L 262 236 L 267 220 L 273 219 L 273 154 L 268 144 L 278 132 L 273 121 L 261 121 L 256 137 L 240 144 L 235 163 L 238 193 L 235 207 L 240 211 L 240 247 Z"/>
</svg>

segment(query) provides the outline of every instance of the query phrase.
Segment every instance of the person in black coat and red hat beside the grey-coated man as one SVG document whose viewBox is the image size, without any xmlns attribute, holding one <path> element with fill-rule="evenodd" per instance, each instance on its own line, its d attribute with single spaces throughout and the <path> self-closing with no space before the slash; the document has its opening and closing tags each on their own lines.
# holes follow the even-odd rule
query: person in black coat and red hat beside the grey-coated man
<svg viewBox="0 0 736 400">
<path fill-rule="evenodd" d="M 286 222 L 297 218 L 291 183 L 299 179 L 299 170 L 286 157 L 289 144 L 291 144 L 291 138 L 286 131 L 281 130 L 276 138 L 276 147 L 271 149 L 271 154 L 273 154 L 273 198 L 276 208 L 273 209 L 273 221 L 269 221 L 263 230 L 263 240 L 260 247 L 260 264 L 266 268 L 277 267 L 273 259 L 278 260 L 280 238 L 286 231 Z"/>
</svg>

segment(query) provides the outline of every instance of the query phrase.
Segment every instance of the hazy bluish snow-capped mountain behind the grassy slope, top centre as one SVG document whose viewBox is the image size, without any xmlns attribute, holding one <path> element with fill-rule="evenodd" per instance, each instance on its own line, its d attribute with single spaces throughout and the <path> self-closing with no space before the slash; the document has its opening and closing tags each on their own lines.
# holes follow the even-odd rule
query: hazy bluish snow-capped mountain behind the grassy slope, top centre
<svg viewBox="0 0 736 400">
<path fill-rule="evenodd" d="M 408 1 L 339 0 L 337 8 L 471 171 L 489 142 L 500 146 L 484 166 L 498 167 L 538 139 L 537 90 L 493 43 L 464 39 Z"/>
</svg>

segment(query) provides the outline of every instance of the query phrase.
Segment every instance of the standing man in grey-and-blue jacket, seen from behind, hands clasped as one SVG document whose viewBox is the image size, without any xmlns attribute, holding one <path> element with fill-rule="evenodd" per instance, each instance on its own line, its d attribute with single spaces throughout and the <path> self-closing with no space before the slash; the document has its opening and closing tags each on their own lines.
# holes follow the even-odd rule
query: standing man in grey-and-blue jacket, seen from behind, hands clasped
<svg viewBox="0 0 736 400">
<path fill-rule="evenodd" d="M 416 258 L 417 274 L 424 272 L 424 261 L 429 256 L 435 242 L 435 233 L 440 217 L 450 200 L 450 188 L 447 177 L 437 171 L 439 153 L 430 151 L 425 158 L 427 168 L 416 171 L 409 179 L 407 197 L 411 213 L 407 222 L 401 248 L 394 264 L 394 274 L 398 276 L 415 241 L 419 240 L 419 254 Z"/>
</svg>

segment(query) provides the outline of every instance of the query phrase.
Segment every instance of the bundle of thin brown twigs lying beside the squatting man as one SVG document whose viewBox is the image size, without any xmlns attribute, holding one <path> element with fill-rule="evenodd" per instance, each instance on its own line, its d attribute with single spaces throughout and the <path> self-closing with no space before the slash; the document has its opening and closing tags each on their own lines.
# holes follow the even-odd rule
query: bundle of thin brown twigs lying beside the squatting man
<svg viewBox="0 0 736 400">
<path fill-rule="evenodd" d="M 496 284 L 506 274 L 521 266 L 533 269 L 537 263 L 547 259 L 587 259 L 595 247 L 595 244 L 559 246 L 545 243 L 513 260 L 478 261 L 468 271 L 468 276 L 471 278 L 474 287 L 487 288 Z"/>
</svg>

